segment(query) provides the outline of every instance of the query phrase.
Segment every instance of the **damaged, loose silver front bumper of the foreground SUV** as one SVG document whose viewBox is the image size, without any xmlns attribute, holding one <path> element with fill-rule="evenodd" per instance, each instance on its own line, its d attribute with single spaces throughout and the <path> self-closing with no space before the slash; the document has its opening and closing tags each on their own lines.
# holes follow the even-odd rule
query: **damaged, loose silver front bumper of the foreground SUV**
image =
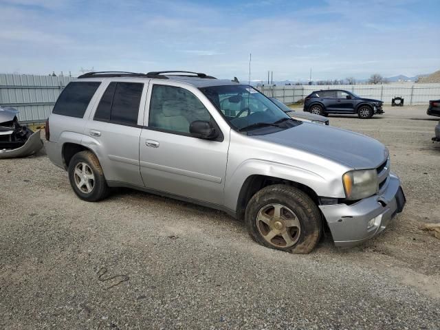
<svg viewBox="0 0 440 330">
<path fill-rule="evenodd" d="M 382 232 L 406 203 L 400 179 L 393 173 L 378 195 L 352 205 L 320 205 L 336 246 L 358 245 Z M 373 220 L 374 219 L 374 220 Z M 373 225 L 369 227 L 373 220 Z"/>
</svg>

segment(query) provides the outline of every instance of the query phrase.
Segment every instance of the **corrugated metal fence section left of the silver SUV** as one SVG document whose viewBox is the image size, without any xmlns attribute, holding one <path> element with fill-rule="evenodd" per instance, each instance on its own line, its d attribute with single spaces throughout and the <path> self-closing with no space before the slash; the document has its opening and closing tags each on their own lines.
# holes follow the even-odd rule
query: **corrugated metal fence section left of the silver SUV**
<svg viewBox="0 0 440 330">
<path fill-rule="evenodd" d="M 20 111 L 21 122 L 41 122 L 72 77 L 0 74 L 0 105 Z"/>
</svg>

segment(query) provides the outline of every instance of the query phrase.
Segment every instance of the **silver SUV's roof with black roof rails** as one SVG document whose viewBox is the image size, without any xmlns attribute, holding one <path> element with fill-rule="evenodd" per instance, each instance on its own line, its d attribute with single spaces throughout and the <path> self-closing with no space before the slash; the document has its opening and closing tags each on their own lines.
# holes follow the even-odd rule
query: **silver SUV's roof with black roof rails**
<svg viewBox="0 0 440 330">
<path fill-rule="evenodd" d="M 169 74 L 168 74 L 169 73 Z M 181 74 L 171 74 L 173 72 L 148 72 L 148 74 L 134 73 L 134 72 L 89 72 L 79 76 L 79 79 L 87 78 L 146 78 L 146 79 L 166 79 L 171 81 L 179 81 L 181 83 L 186 83 L 194 87 L 210 87 L 210 86 L 224 86 L 224 85 L 241 85 L 234 80 L 223 80 L 217 79 L 212 76 L 207 76 L 206 74 L 201 74 L 197 72 L 179 72 Z M 191 74 L 191 75 L 189 75 Z"/>
</svg>

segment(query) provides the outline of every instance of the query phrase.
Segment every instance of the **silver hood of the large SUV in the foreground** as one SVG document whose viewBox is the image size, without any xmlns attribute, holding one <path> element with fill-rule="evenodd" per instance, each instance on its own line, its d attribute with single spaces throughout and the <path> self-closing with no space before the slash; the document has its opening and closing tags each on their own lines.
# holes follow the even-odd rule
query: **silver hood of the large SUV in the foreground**
<svg viewBox="0 0 440 330">
<path fill-rule="evenodd" d="M 302 124 L 252 137 L 321 155 L 350 168 L 377 168 L 388 157 L 384 144 L 371 137 L 333 126 Z"/>
</svg>

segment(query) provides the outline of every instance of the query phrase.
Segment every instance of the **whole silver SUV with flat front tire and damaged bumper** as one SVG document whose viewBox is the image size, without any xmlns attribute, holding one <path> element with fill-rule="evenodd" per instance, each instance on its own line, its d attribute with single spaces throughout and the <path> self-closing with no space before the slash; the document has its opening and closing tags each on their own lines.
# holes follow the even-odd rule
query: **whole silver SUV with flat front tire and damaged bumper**
<svg viewBox="0 0 440 330">
<path fill-rule="evenodd" d="M 256 89 L 206 74 L 84 74 L 59 96 L 46 139 L 80 199 L 129 187 L 198 203 L 289 252 L 311 252 L 325 228 L 338 246 L 358 244 L 405 203 L 380 142 L 294 120 Z"/>
</svg>

